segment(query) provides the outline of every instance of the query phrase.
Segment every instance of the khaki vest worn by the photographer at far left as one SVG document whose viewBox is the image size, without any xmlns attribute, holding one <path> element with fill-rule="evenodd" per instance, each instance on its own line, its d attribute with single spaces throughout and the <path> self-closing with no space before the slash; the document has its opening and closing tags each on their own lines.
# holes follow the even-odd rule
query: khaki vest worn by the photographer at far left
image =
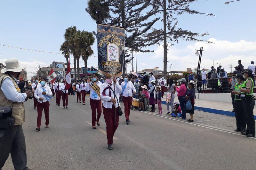
<svg viewBox="0 0 256 170">
<path fill-rule="evenodd" d="M 0 83 L 4 81 L 5 78 L 10 78 L 17 90 L 20 93 L 20 88 L 17 85 L 16 81 L 7 74 L 3 74 L 0 77 Z M 13 104 L 13 105 L 12 105 Z M 0 107 L 12 107 L 12 116 L 15 117 L 15 124 L 14 125 L 21 125 L 25 122 L 25 106 L 24 102 L 12 102 L 8 100 L 2 90 L 0 89 Z"/>
</svg>

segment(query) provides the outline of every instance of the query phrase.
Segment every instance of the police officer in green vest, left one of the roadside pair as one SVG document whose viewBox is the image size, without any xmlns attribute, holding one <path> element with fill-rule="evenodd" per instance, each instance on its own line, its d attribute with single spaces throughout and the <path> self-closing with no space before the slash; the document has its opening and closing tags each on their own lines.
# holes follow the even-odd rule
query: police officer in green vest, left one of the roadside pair
<svg viewBox="0 0 256 170">
<path fill-rule="evenodd" d="M 241 92 L 241 88 L 243 86 L 244 83 L 244 77 L 243 74 L 241 73 L 237 73 L 236 74 L 236 79 L 237 79 L 237 83 L 234 87 L 234 91 L 231 92 L 232 95 L 234 95 L 234 111 L 235 111 L 235 116 L 236 116 L 236 130 L 235 132 L 245 132 L 245 126 L 246 126 L 246 122 L 245 122 L 245 115 L 244 115 L 244 108 L 242 105 L 242 99 L 240 99 L 240 92 Z"/>
</svg>

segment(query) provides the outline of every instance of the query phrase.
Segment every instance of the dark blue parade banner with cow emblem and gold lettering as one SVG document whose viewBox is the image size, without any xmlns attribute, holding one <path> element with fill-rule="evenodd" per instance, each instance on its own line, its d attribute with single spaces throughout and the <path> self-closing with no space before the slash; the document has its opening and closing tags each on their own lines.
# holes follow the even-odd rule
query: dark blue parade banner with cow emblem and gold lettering
<svg viewBox="0 0 256 170">
<path fill-rule="evenodd" d="M 97 24 L 98 72 L 119 77 L 123 74 L 125 29 Z"/>
</svg>

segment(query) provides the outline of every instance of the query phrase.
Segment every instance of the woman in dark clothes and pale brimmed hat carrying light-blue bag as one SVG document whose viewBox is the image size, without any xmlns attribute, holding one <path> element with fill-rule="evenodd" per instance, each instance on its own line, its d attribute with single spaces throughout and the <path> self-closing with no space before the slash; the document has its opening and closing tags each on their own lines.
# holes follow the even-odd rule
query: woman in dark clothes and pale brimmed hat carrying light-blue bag
<svg viewBox="0 0 256 170">
<path fill-rule="evenodd" d="M 195 85 L 196 85 L 196 83 L 193 80 L 190 80 L 190 82 L 188 84 L 189 89 L 186 92 L 186 96 L 185 96 L 186 97 L 185 106 L 186 106 L 186 103 L 188 102 L 188 100 L 190 100 L 191 105 L 192 105 L 191 110 L 186 109 L 186 113 L 190 114 L 190 119 L 188 119 L 188 122 L 194 122 L 193 115 L 195 113 L 194 106 L 195 106 L 195 94 L 196 94 Z"/>
</svg>

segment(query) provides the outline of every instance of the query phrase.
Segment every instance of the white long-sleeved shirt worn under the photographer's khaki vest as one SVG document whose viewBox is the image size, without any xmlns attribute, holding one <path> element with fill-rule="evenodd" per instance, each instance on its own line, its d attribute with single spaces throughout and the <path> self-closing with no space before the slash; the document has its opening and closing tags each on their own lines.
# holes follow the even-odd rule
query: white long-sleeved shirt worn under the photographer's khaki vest
<svg viewBox="0 0 256 170">
<path fill-rule="evenodd" d="M 14 78 L 15 79 L 15 78 Z M 16 81 L 16 79 L 15 79 Z M 10 78 L 5 78 L 2 85 L 1 90 L 4 93 L 6 99 L 11 100 L 13 102 L 24 102 L 27 98 L 26 93 L 17 92 L 13 81 Z"/>
</svg>

